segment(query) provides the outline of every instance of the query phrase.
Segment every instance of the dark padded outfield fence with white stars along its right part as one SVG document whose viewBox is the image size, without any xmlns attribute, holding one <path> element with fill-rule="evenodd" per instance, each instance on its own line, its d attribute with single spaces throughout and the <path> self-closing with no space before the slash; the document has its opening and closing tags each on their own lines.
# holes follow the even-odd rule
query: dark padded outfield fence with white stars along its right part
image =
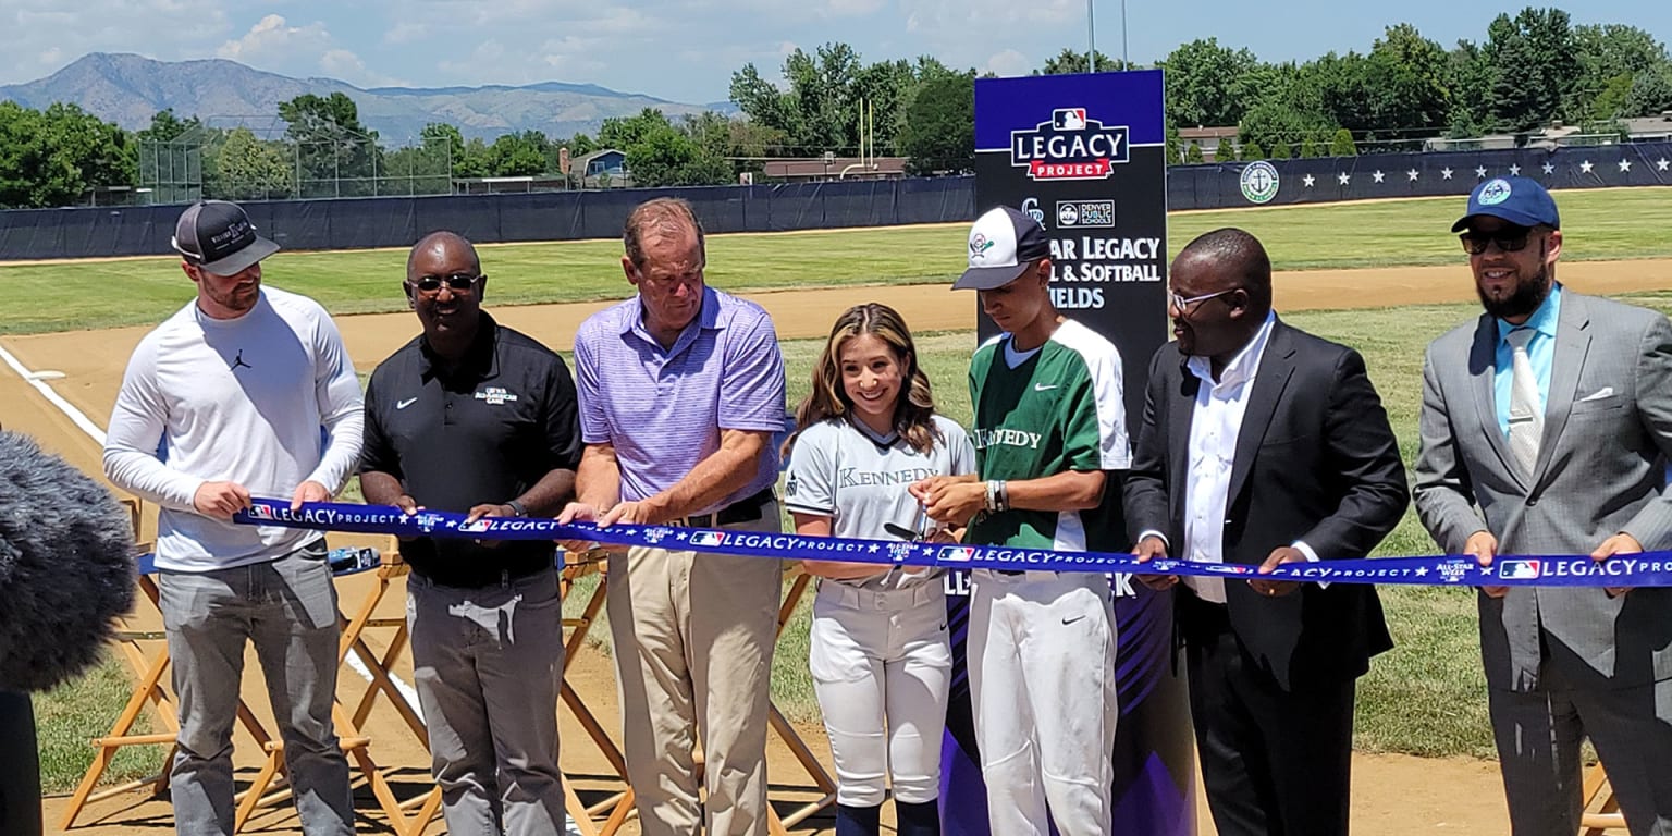
<svg viewBox="0 0 1672 836">
<path fill-rule="evenodd" d="M 1672 142 L 1562 149 L 1368 154 L 1267 161 L 1271 204 L 1461 196 L 1481 179 L 1523 174 L 1552 189 L 1672 186 Z M 1169 209 L 1254 206 L 1247 162 L 1167 169 Z M 251 221 L 286 249 L 406 247 L 436 229 L 498 241 L 614 239 L 639 202 L 691 201 L 711 232 L 781 232 L 966 222 L 973 177 L 829 181 L 682 189 L 607 189 L 433 197 L 344 197 L 246 202 Z M 0 261 L 167 254 L 181 206 L 0 211 Z"/>
</svg>

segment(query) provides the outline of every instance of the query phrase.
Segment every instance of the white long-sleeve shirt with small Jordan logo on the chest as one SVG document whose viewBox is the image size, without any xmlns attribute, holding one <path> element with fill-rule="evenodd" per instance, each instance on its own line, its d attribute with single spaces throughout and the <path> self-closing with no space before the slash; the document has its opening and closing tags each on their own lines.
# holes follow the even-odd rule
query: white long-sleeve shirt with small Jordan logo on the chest
<svg viewBox="0 0 1672 836">
<path fill-rule="evenodd" d="M 104 470 L 159 505 L 157 567 L 207 572 L 283 557 L 319 537 L 204 517 L 206 482 L 289 500 L 303 482 L 336 492 L 359 458 L 359 381 L 319 303 L 263 288 L 237 319 L 196 299 L 140 339 L 105 435 Z"/>
</svg>

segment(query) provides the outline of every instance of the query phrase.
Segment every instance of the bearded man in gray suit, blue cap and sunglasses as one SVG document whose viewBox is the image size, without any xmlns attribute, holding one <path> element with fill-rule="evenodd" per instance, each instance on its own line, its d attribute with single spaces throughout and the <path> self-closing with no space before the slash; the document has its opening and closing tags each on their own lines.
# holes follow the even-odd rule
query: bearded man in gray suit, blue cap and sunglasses
<svg viewBox="0 0 1672 836">
<path fill-rule="evenodd" d="M 1428 346 L 1415 495 L 1435 542 L 1483 567 L 1672 548 L 1672 324 L 1563 289 L 1560 226 L 1550 192 L 1506 177 L 1451 227 L 1486 313 Z M 1632 834 L 1672 834 L 1672 589 L 1478 597 L 1513 833 L 1578 831 L 1590 736 Z"/>
</svg>

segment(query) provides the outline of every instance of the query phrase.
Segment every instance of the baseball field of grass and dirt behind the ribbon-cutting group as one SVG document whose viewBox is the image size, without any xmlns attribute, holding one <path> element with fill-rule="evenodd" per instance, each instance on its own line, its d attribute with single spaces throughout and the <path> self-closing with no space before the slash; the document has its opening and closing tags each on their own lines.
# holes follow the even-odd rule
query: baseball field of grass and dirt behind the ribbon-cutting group
<svg viewBox="0 0 1672 836">
<path fill-rule="evenodd" d="M 1567 286 L 1672 311 L 1672 191 L 1575 191 L 1557 199 L 1567 236 L 1558 278 Z M 1241 226 L 1259 236 L 1281 271 L 1279 316 L 1366 356 L 1409 465 L 1416 451 L 1423 346 L 1478 314 L 1463 252 L 1448 232 L 1461 206 L 1456 197 L 1174 214 L 1169 251 L 1221 226 Z M 975 299 L 946 291 L 961 271 L 965 231 L 955 224 L 712 236 L 707 281 L 772 313 L 784 339 L 793 401 L 806 393 L 819 338 L 843 308 L 861 301 L 895 306 L 920 336 L 941 411 L 966 423 L 963 380 L 975 341 Z M 630 293 L 619 256 L 615 241 L 483 246 L 490 278 L 485 303 L 500 321 L 567 351 L 570 334 L 587 314 Z M 338 314 L 354 364 L 370 373 L 418 331 L 400 291 L 403 263 L 403 251 L 281 252 L 264 264 L 264 281 L 323 301 Z M 149 326 L 192 296 L 191 283 L 169 257 L 95 259 L 3 264 L 0 293 L 7 299 L 0 359 L 8 366 L 0 370 L 0 396 L 7 405 L 0 423 L 99 473 L 99 436 L 127 356 Z M 1415 515 L 1408 515 L 1379 553 L 1433 550 Z M 370 575 L 344 579 L 344 607 L 358 604 L 368 589 Z M 579 612 L 589 590 L 590 585 L 579 585 L 568 609 Z M 1354 829 L 1506 831 L 1495 764 L 1485 761 L 1491 741 L 1471 594 L 1384 589 L 1383 600 L 1398 647 L 1379 657 L 1359 684 Z M 398 585 L 378 612 L 400 615 Z M 154 627 L 155 614 L 142 612 L 135 622 Z M 595 627 L 594 639 L 604 635 Z M 380 642 L 386 639 L 368 634 L 368 645 L 381 654 L 388 645 Z M 605 654 L 607 647 L 594 642 L 577 654 L 568 679 L 610 729 L 614 682 Z M 410 681 L 408 662 L 396 660 L 393 669 Z M 109 729 L 130 689 L 127 664 L 112 657 L 85 681 L 37 699 L 45 781 L 57 794 L 48 799 L 50 826 L 57 824 L 62 794 L 92 757 L 87 739 Z M 257 714 L 266 711 L 252 664 L 244 691 Z M 806 677 L 804 614 L 791 622 L 779 645 L 774 701 L 828 762 Z M 366 731 L 378 762 L 395 776 L 391 781 L 421 784 L 428 759 L 395 712 L 373 711 Z M 609 771 L 572 716 L 565 716 L 562 732 L 565 771 L 592 777 Z M 254 744 L 241 736 L 237 746 L 241 767 L 252 774 Z M 162 747 L 129 747 L 112 777 L 149 774 L 161 756 Z M 808 786 L 784 751 L 774 752 L 772 782 L 791 796 L 794 788 Z M 585 791 L 585 779 L 577 779 L 577 786 Z M 77 831 L 169 829 L 167 806 L 142 799 L 124 796 L 94 804 Z M 364 809 L 371 811 L 368 823 L 381 823 L 375 806 Z M 821 826 L 828 829 L 828 819 L 814 818 L 796 833 L 821 833 Z M 294 828 L 288 808 L 278 808 L 257 814 L 249 831 Z"/>
</svg>

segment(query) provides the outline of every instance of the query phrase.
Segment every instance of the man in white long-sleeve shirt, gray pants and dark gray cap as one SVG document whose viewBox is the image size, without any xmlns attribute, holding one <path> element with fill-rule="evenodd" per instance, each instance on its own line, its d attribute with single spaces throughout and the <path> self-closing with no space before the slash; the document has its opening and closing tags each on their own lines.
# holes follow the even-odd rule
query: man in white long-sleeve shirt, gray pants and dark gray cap
<svg viewBox="0 0 1672 836">
<path fill-rule="evenodd" d="M 186 209 L 174 249 L 197 298 L 139 341 L 104 448 L 105 477 L 159 508 L 159 609 L 179 694 L 174 828 L 232 833 L 232 726 L 252 644 L 303 833 L 353 836 L 324 537 L 232 515 L 252 497 L 296 510 L 343 488 L 364 436 L 354 364 L 319 303 L 261 286 L 261 259 L 279 247 L 237 204 Z"/>
</svg>

